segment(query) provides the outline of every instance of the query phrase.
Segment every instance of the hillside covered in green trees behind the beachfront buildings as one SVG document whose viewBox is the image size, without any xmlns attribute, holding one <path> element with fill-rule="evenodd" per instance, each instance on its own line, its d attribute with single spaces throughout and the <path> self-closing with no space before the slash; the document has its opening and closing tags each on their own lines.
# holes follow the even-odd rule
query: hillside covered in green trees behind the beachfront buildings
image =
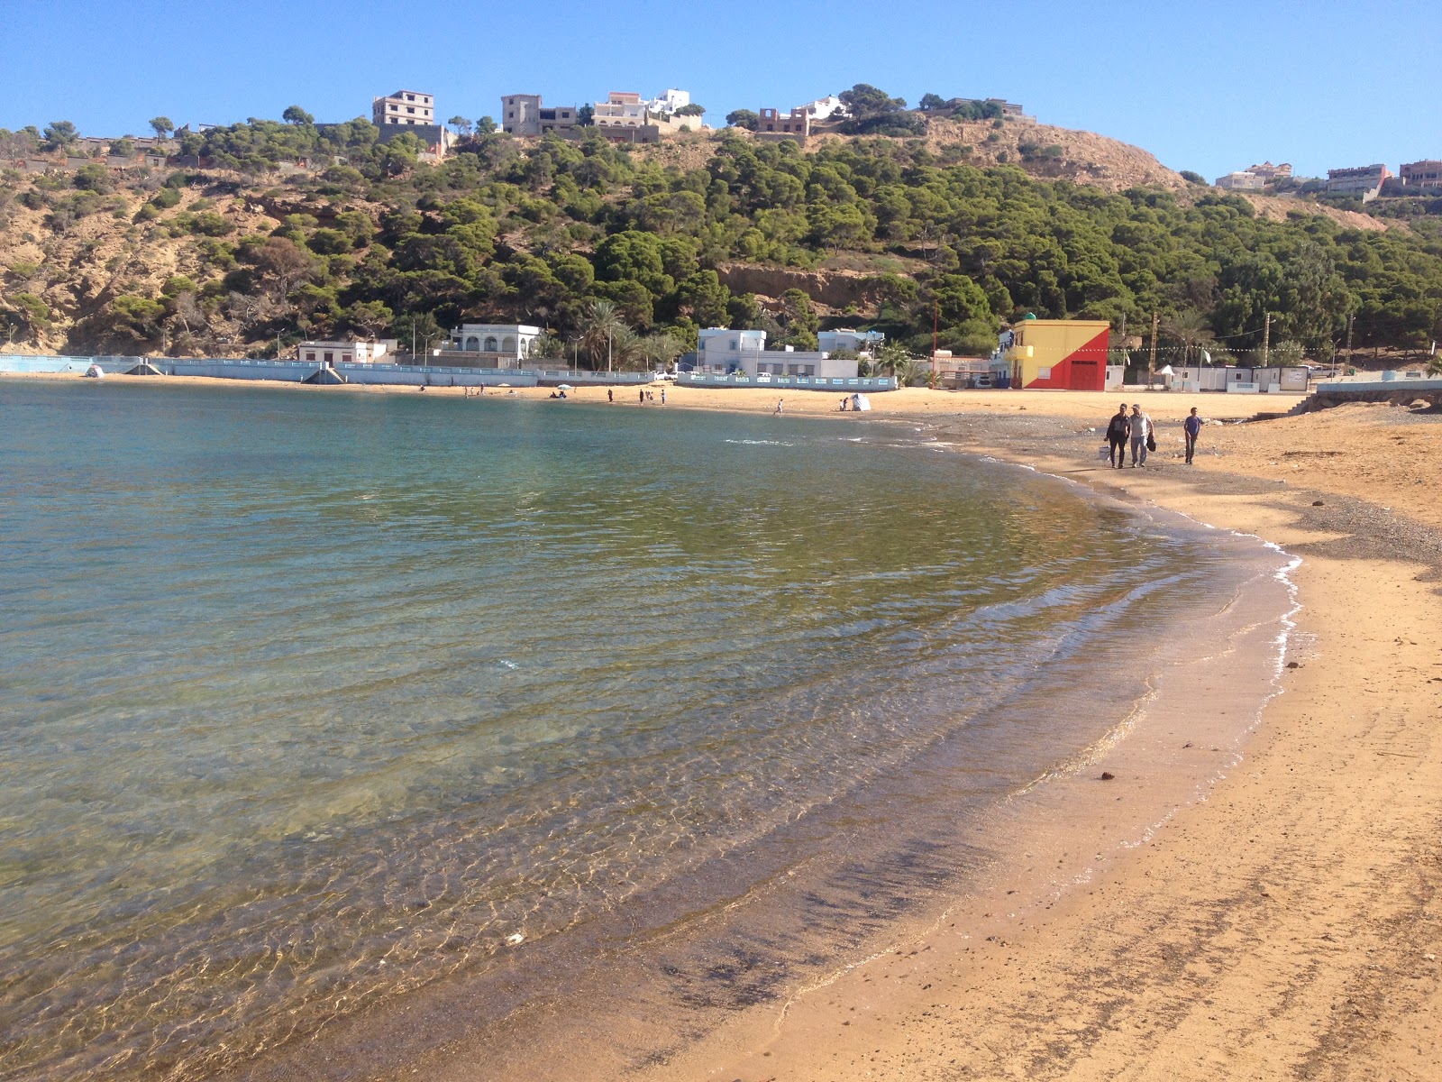
<svg viewBox="0 0 1442 1082">
<path fill-rule="evenodd" d="M 1132 333 L 1155 312 L 1171 345 L 1233 352 L 1260 343 L 1268 313 L 1273 346 L 1312 353 L 1348 316 L 1360 345 L 1419 348 L 1442 330 L 1442 239 L 1429 221 L 1392 231 L 1304 214 L 1263 221 L 1239 196 L 1112 195 L 1018 166 L 975 167 L 965 149 L 943 157 L 910 138 L 808 153 L 727 131 L 704 164 L 682 167 L 594 134 L 523 143 L 482 123 L 431 167 L 415 163 L 415 140 L 376 136 L 365 120 L 316 126 L 297 111 L 286 124 L 182 137 L 186 160 L 216 169 L 120 186 L 98 166 L 6 173 L 0 327 L 39 342 L 69 317 L 71 348 L 196 353 L 348 332 L 410 343 L 414 330 L 434 343 L 461 319 L 518 319 L 570 355 L 568 342 L 598 340 L 606 302 L 637 336 L 665 329 L 678 349 L 709 325 L 764 326 L 808 346 L 828 320 L 926 352 L 934 319 L 943 348 L 985 352 L 1028 312 Z M 324 167 L 271 176 L 300 159 Z M 140 263 L 147 247 L 174 247 L 179 273 L 68 313 L 56 297 L 75 270 L 59 255 L 102 212 Z M 724 280 L 735 263 L 838 261 L 877 270 L 851 310 L 818 310 L 799 290 L 737 296 Z"/>
</svg>

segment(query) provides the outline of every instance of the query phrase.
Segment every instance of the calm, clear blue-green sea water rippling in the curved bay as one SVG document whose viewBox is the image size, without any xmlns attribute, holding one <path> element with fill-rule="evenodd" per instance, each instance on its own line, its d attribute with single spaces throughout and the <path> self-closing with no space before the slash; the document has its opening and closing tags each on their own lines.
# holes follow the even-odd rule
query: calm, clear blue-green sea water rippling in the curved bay
<svg viewBox="0 0 1442 1082">
<path fill-rule="evenodd" d="M 849 802 L 1084 746 L 1086 659 L 1229 567 L 884 424 L 9 382 L 0 453 L 4 1078 L 203 1076 L 885 851 Z"/>
</svg>

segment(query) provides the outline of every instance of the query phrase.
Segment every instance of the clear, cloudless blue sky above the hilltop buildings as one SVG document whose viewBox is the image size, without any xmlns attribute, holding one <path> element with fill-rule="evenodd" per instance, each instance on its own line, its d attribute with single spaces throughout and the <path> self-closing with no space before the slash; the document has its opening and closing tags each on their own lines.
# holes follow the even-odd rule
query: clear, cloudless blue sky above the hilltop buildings
<svg viewBox="0 0 1442 1082">
<path fill-rule="evenodd" d="M 9 128 L 144 134 L 157 114 L 224 124 L 290 104 L 346 120 L 402 87 L 434 92 L 441 118 L 496 115 L 506 92 L 679 87 L 720 126 L 871 82 L 913 104 L 1019 101 L 1208 179 L 1263 159 L 1315 176 L 1442 157 L 1438 0 L 0 0 L 0 26 Z"/>
</svg>

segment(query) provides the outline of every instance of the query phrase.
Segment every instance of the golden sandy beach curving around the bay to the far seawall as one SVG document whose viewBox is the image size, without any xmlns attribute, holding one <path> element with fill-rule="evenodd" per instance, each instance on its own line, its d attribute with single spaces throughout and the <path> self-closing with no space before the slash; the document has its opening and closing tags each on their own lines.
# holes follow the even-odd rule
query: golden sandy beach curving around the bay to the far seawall
<svg viewBox="0 0 1442 1082">
<path fill-rule="evenodd" d="M 760 388 L 666 394 L 665 407 L 640 407 L 634 391 L 629 400 L 617 391 L 614 408 L 771 411 L 784 398 L 787 414 L 833 415 L 839 401 Z M 572 400 L 604 401 L 606 391 L 581 388 Z M 1141 401 L 1158 424 L 1146 469 L 1097 460 L 1099 431 L 1123 400 Z M 1283 691 L 1240 762 L 1214 772 L 1206 799 L 1155 821 L 1132 811 L 1145 806 L 1148 765 L 1123 740 L 1074 779 L 1064 808 L 1018 818 L 999 871 L 939 919 L 898 923 L 870 959 L 738 1010 L 634 1076 L 1438 1078 L 1442 417 L 1355 405 L 1208 424 L 1188 469 L 1180 421 L 1190 407 L 1236 421 L 1295 398 L 908 390 L 871 401 L 858 420 L 929 426 L 957 452 L 1255 534 L 1301 557 Z M 1099 780 L 1103 770 L 1115 778 Z M 1129 814 L 1141 817 L 1139 831 Z M 1092 847 L 1118 837 L 1118 824 L 1125 844 Z M 368 1076 L 489 1079 L 500 1076 L 496 1066 L 461 1040 L 395 1075 Z M 510 1066 L 506 1076 L 528 1076 L 523 1063 Z"/>
</svg>

